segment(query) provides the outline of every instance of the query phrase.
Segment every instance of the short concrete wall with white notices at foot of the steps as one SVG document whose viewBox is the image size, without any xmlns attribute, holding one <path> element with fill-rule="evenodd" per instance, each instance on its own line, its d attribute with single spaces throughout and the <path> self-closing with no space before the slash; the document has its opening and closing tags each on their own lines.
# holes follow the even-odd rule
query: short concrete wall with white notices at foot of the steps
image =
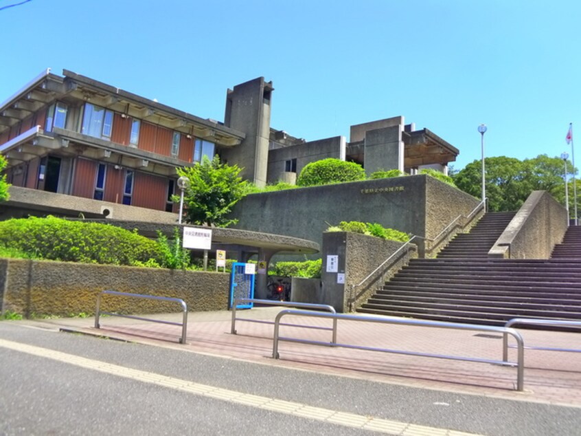
<svg viewBox="0 0 581 436">
<path fill-rule="evenodd" d="M 325 232 L 321 269 L 323 286 L 318 302 L 332 305 L 337 312 L 350 312 L 358 304 L 366 301 L 389 276 L 394 275 L 403 265 L 407 265 L 409 259 L 418 256 L 417 248 L 409 244 L 368 281 L 358 286 L 403 245 L 401 242 L 386 241 L 358 233 Z M 337 256 L 337 272 L 328 271 L 330 256 Z"/>
</svg>

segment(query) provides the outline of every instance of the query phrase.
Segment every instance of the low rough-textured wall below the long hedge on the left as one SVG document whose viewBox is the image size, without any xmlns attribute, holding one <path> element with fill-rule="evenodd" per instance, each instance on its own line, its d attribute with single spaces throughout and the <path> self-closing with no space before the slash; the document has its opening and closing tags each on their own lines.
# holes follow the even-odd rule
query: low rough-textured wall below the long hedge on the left
<svg viewBox="0 0 581 436">
<path fill-rule="evenodd" d="M 225 310 L 229 274 L 53 261 L 0 259 L 1 312 L 94 314 L 102 290 L 182 298 L 190 312 Z M 179 312 L 176 303 L 106 296 L 102 310 L 125 314 Z"/>
</svg>

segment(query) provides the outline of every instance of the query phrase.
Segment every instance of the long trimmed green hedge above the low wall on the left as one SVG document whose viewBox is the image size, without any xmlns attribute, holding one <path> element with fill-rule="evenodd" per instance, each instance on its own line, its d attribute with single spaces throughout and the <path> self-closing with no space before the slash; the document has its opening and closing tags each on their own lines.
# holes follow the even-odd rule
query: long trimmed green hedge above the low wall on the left
<svg viewBox="0 0 581 436">
<path fill-rule="evenodd" d="M 161 263 L 158 243 L 137 232 L 56 217 L 0 221 L 0 246 L 33 259 L 112 265 L 155 259 Z"/>
</svg>

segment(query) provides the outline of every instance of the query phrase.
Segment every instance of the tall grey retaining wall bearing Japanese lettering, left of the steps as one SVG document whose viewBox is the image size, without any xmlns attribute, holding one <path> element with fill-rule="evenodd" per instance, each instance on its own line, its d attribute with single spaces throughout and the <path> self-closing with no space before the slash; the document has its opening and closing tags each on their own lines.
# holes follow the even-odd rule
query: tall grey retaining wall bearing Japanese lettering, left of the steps
<svg viewBox="0 0 581 436">
<path fill-rule="evenodd" d="M 323 242 L 340 221 L 376 222 L 420 237 L 438 235 L 479 201 L 428 175 L 366 180 L 248 195 L 237 228 Z M 423 246 L 422 241 L 418 241 Z"/>
</svg>

